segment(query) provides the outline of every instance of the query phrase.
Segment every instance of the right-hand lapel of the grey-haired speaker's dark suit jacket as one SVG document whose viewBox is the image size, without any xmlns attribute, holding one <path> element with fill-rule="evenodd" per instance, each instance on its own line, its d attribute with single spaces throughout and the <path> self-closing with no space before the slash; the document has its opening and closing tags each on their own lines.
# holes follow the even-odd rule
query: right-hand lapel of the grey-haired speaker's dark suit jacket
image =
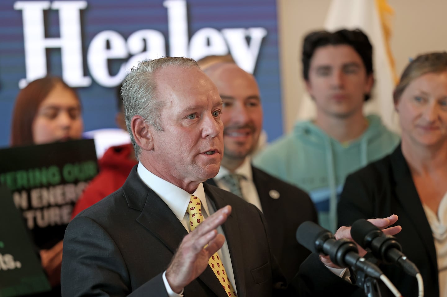
<svg viewBox="0 0 447 297">
<path fill-rule="evenodd" d="M 203 184 L 205 193 L 207 193 L 208 198 L 215 205 L 215 209 L 218 210 L 226 206 L 228 203 L 226 200 L 216 193 L 212 187 Z M 238 226 L 238 219 L 236 215 L 236 210 L 233 208 L 232 213 L 228 217 L 227 221 L 222 225 L 223 232 L 225 233 L 225 240 L 228 244 L 228 250 L 231 256 L 231 263 L 233 266 L 233 274 L 236 284 L 237 296 L 246 297 L 245 288 L 245 273 L 244 273 L 244 259 L 242 255 L 242 250 L 240 248 L 241 236 L 240 229 Z M 211 268 L 210 268 L 211 269 Z M 224 295 L 226 296 L 226 295 Z"/>
</svg>

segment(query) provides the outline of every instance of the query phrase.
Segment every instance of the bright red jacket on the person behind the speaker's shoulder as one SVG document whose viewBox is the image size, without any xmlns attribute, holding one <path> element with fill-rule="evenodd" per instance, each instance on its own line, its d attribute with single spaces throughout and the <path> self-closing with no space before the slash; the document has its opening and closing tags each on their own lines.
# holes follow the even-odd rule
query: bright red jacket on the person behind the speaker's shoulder
<svg viewBox="0 0 447 297">
<path fill-rule="evenodd" d="M 134 154 L 132 144 L 112 146 L 105 151 L 98 161 L 99 173 L 90 181 L 76 202 L 72 219 L 82 210 L 92 206 L 102 198 L 118 190 L 126 181 L 127 176 L 138 162 L 131 157 Z"/>
</svg>

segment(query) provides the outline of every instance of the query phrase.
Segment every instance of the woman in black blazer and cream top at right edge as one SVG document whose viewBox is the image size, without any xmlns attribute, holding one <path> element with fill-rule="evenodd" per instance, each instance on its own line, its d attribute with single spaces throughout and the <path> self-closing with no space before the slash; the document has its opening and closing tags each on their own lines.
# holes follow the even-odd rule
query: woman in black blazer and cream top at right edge
<svg viewBox="0 0 447 297">
<path fill-rule="evenodd" d="M 447 295 L 447 53 L 418 56 L 394 92 L 401 144 L 351 174 L 338 204 L 339 225 L 397 214 L 396 238 L 419 268 L 425 296 Z M 396 265 L 381 267 L 403 296 L 417 282 Z"/>
</svg>

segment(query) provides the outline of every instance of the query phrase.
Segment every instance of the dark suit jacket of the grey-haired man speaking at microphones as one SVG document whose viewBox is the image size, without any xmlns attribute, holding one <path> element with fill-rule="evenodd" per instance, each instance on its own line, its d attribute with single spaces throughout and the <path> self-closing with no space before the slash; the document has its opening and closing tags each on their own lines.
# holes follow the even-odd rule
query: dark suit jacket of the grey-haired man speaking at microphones
<svg viewBox="0 0 447 297">
<path fill-rule="evenodd" d="M 222 226 L 238 296 L 289 296 L 288 291 L 278 289 L 285 279 L 270 251 L 261 212 L 227 191 L 203 186 L 215 209 L 232 206 Z M 166 297 L 162 273 L 186 234 L 169 207 L 140 180 L 135 166 L 121 189 L 82 211 L 68 225 L 62 296 Z M 304 292 L 301 296 L 319 296 L 307 293 L 313 288 L 352 290 L 352 285 L 325 269 L 317 257 L 309 257 L 308 267 L 308 274 L 301 273 L 305 282 L 298 280 Z M 324 277 L 326 286 L 318 277 Z M 185 287 L 184 296 L 225 297 L 226 293 L 207 267 Z"/>
</svg>

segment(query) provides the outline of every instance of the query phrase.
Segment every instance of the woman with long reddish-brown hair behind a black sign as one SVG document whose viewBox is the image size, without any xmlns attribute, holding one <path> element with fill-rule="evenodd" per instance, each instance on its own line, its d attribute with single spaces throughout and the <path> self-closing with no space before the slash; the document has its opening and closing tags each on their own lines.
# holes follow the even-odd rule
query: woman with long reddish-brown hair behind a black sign
<svg viewBox="0 0 447 297">
<path fill-rule="evenodd" d="M 13 110 L 11 146 L 80 139 L 81 103 L 76 91 L 59 77 L 30 82 L 17 95 Z M 33 233 L 34 238 L 38 234 Z M 42 267 L 53 287 L 42 296 L 61 296 L 62 238 L 39 244 Z M 54 244 L 57 242 L 56 244 Z"/>
</svg>

